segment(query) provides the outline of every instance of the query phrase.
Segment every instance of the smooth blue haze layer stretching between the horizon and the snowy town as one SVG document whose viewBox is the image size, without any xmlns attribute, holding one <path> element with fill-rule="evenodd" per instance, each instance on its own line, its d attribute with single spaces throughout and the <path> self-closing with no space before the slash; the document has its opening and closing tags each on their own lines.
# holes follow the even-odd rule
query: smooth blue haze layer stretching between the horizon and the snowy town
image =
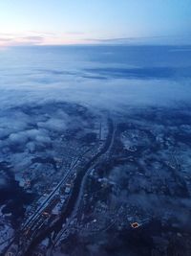
<svg viewBox="0 0 191 256">
<path fill-rule="evenodd" d="M 189 104 L 191 47 L 23 47 L 0 52 L 1 109 Z M 176 60 L 176 61 L 175 61 Z"/>
</svg>

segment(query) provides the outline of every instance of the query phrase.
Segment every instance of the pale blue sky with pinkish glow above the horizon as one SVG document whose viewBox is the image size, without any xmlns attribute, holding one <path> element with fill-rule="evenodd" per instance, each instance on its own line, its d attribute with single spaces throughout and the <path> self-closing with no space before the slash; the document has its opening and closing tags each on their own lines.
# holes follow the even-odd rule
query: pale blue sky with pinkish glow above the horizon
<svg viewBox="0 0 191 256">
<path fill-rule="evenodd" d="M 0 46 L 190 44 L 190 0 L 0 0 Z"/>
</svg>

